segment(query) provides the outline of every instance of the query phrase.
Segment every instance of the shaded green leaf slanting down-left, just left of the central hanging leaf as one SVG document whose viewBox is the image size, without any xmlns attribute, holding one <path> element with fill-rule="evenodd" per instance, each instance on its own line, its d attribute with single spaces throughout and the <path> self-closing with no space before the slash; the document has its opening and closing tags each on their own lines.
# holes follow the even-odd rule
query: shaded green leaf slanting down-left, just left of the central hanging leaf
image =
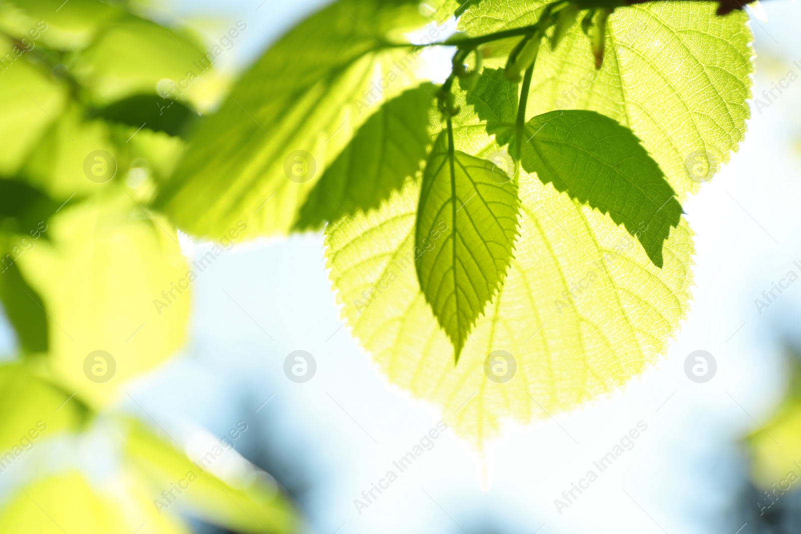
<svg viewBox="0 0 801 534">
<path fill-rule="evenodd" d="M 326 169 L 300 208 L 296 230 L 317 229 L 380 206 L 425 160 L 433 97 L 430 83 L 386 102 Z"/>
</svg>

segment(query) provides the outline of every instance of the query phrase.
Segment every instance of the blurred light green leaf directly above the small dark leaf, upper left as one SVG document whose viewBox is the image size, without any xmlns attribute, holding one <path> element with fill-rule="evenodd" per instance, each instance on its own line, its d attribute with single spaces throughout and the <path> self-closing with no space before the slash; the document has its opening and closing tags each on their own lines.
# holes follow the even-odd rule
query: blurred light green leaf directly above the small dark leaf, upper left
<svg viewBox="0 0 801 534">
<path fill-rule="evenodd" d="M 210 64 L 194 38 L 155 22 L 127 18 L 103 26 L 95 42 L 78 54 L 71 72 L 101 106 L 135 94 L 164 94 L 159 89 L 166 91 L 170 84 L 162 82 L 157 89 L 162 80 L 177 87 L 170 94 L 191 102 L 202 90 L 197 78 Z"/>
</svg>

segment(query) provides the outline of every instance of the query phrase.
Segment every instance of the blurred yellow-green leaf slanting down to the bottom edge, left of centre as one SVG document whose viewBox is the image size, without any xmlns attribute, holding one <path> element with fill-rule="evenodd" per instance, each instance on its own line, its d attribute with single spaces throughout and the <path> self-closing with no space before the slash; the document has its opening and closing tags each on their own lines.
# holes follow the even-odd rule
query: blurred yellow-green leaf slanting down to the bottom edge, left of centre
<svg viewBox="0 0 801 534">
<path fill-rule="evenodd" d="M 252 534 L 300 532 L 300 520 L 292 504 L 278 492 L 272 477 L 254 471 L 256 468 L 250 464 L 250 476 L 240 472 L 225 482 L 210 472 L 217 456 L 223 454 L 219 444 L 192 462 L 142 424 L 132 424 L 127 438 L 128 458 L 135 471 L 151 481 L 157 508 L 159 504 L 164 508 L 171 504 L 160 492 L 169 491 L 171 484 L 182 481 L 182 487 L 185 484 L 188 488 L 181 494 L 181 502 L 203 520 Z"/>
</svg>

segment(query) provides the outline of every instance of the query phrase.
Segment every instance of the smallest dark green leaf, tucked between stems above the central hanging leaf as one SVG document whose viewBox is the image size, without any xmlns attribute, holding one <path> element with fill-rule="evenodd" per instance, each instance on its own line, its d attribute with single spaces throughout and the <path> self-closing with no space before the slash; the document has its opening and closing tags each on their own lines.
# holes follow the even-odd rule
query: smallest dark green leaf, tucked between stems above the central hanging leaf
<svg viewBox="0 0 801 534">
<path fill-rule="evenodd" d="M 519 85 L 509 82 L 503 69 L 485 69 L 475 89 L 467 93 L 467 103 L 487 122 L 487 133 L 495 134 L 501 146 L 509 143 L 514 133 L 506 125 L 514 124 L 517 118 L 518 90 Z"/>
</svg>

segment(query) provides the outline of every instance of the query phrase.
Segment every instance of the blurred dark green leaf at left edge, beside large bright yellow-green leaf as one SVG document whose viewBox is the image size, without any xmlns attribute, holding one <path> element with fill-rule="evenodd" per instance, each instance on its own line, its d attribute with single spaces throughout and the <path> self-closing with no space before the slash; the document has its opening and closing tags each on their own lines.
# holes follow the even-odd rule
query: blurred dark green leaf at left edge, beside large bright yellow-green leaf
<svg viewBox="0 0 801 534">
<path fill-rule="evenodd" d="M 17 332 L 23 353 L 47 351 L 47 318 L 42 297 L 22 278 L 17 263 L 0 267 L 0 301 L 6 317 Z M 2 413 L 2 412 L 0 412 Z"/>
</svg>

